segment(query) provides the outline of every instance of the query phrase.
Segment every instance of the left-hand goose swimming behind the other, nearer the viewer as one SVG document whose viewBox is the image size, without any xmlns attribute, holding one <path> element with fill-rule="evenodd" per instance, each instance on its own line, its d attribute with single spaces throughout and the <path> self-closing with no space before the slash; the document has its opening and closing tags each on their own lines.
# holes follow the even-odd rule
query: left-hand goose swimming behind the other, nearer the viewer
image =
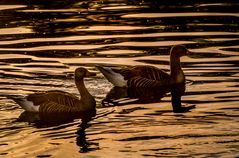
<svg viewBox="0 0 239 158">
<path fill-rule="evenodd" d="M 84 85 L 84 77 L 95 76 L 85 68 L 75 70 L 75 84 L 81 99 L 71 93 L 51 90 L 36 92 L 26 97 L 11 97 L 24 110 L 38 113 L 77 113 L 95 110 L 96 102 Z"/>
</svg>

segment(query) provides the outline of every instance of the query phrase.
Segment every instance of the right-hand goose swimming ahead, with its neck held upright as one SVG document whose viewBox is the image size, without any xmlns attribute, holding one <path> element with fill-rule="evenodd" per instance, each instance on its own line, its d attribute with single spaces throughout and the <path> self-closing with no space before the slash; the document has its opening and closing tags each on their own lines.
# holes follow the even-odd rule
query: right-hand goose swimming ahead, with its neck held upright
<svg viewBox="0 0 239 158">
<path fill-rule="evenodd" d="M 150 65 L 137 65 L 120 69 L 96 65 L 105 78 L 116 87 L 159 87 L 185 83 L 180 57 L 191 52 L 183 45 L 170 50 L 170 74 Z"/>
</svg>

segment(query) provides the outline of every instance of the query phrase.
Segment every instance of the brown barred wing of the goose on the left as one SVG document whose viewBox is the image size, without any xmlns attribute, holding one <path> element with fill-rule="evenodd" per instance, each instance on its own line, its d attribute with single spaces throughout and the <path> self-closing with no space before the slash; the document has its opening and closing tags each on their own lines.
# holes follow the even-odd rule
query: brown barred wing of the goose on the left
<svg viewBox="0 0 239 158">
<path fill-rule="evenodd" d="M 74 107 L 74 105 L 79 103 L 79 99 L 76 96 L 63 91 L 37 92 L 28 95 L 27 100 L 32 101 L 34 105 L 42 105 L 49 102 L 52 105 L 54 103 L 54 106 L 62 105 Z"/>
</svg>

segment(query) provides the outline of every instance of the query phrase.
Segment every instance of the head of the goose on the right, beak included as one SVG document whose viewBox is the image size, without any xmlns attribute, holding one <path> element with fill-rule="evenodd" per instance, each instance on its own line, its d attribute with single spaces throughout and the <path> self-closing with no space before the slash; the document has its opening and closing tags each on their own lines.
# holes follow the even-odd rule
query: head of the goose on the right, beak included
<svg viewBox="0 0 239 158">
<path fill-rule="evenodd" d="M 174 57 L 182 57 L 186 55 L 190 55 L 191 52 L 183 45 L 175 45 L 171 48 L 170 55 Z"/>
</svg>

